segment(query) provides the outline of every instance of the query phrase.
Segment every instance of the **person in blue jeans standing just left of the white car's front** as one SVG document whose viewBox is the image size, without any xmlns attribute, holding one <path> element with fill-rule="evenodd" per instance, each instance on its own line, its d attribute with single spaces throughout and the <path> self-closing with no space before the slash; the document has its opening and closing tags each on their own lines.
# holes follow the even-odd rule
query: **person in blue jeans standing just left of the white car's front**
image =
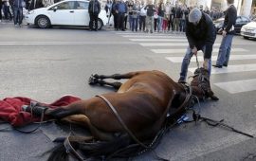
<svg viewBox="0 0 256 161">
<path fill-rule="evenodd" d="M 23 19 L 23 7 L 25 2 L 24 0 L 14 0 L 13 1 L 13 14 L 14 14 L 14 26 L 21 27 Z"/>
</svg>

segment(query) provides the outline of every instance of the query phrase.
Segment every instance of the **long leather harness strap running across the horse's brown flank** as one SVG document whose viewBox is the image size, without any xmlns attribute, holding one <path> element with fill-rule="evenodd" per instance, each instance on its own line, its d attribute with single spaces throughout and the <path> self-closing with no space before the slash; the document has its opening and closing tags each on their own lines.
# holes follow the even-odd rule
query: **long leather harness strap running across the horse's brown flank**
<svg viewBox="0 0 256 161">
<path fill-rule="evenodd" d="M 107 105 L 110 107 L 110 109 L 112 110 L 112 112 L 114 113 L 115 116 L 117 116 L 117 118 L 119 119 L 119 123 L 122 125 L 122 127 L 124 128 L 124 130 L 141 146 L 144 148 L 150 148 L 148 146 L 146 146 L 145 144 L 143 144 L 141 141 L 139 141 L 137 139 L 137 137 L 135 136 L 135 134 L 133 134 L 129 128 L 125 125 L 125 123 L 123 122 L 123 120 L 121 119 L 121 117 L 119 116 L 119 113 L 117 112 L 116 108 L 110 103 L 110 101 L 107 98 L 104 98 L 101 95 L 97 95 L 96 97 L 102 98 Z"/>
</svg>

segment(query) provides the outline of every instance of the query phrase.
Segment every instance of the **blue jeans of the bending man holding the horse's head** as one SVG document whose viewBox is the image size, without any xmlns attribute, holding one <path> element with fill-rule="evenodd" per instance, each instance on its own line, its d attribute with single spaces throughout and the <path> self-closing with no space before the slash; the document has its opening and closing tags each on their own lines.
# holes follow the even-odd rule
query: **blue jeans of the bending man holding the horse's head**
<svg viewBox="0 0 256 161">
<path fill-rule="evenodd" d="M 205 51 L 206 51 L 206 46 L 202 47 L 202 51 L 204 53 L 204 58 L 205 58 Z M 181 64 L 181 72 L 180 72 L 180 79 L 179 80 L 186 80 L 187 78 L 187 73 L 188 73 L 188 68 L 189 65 L 191 63 L 191 59 L 192 59 L 192 48 L 190 46 L 188 46 L 187 51 L 186 51 L 186 55 L 183 58 L 182 64 Z M 210 75 L 210 70 L 211 70 L 211 59 L 209 60 L 209 64 L 208 64 L 208 71 L 209 71 L 209 75 Z"/>
</svg>

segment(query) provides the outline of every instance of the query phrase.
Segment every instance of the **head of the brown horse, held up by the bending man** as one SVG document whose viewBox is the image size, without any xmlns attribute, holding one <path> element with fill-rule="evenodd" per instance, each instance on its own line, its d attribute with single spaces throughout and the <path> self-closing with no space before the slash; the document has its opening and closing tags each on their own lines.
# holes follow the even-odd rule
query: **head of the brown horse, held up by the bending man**
<svg viewBox="0 0 256 161">
<path fill-rule="evenodd" d="M 197 68 L 192 76 L 192 94 L 198 98 L 211 98 L 218 100 L 210 89 L 210 75 L 209 71 L 203 67 Z"/>
</svg>

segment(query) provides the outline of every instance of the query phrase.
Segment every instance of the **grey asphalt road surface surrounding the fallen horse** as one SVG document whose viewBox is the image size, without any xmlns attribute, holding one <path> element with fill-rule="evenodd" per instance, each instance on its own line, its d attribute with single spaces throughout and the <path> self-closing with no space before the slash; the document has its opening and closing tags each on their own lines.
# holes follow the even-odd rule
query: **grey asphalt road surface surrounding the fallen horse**
<svg viewBox="0 0 256 161">
<path fill-rule="evenodd" d="M 145 36 L 145 33 L 118 32 L 111 28 L 95 32 L 83 28 L 13 27 L 12 24 L 2 23 L 0 35 L 1 98 L 18 96 L 49 103 L 64 95 L 91 98 L 109 92 L 106 88 L 87 84 L 90 75 L 95 73 L 114 74 L 157 69 L 177 80 L 180 63 L 170 62 L 166 57 L 184 55 L 156 53 L 154 49 L 164 47 L 141 45 L 129 37 Z M 160 39 L 162 35 L 154 34 L 155 39 Z M 218 36 L 216 43 L 219 44 L 220 40 L 221 37 Z M 233 48 L 244 50 L 238 49 L 232 54 L 256 55 L 255 41 L 235 36 L 233 42 Z M 169 48 L 178 49 L 178 46 Z M 246 66 L 255 63 L 253 58 L 232 60 L 230 69 L 231 65 Z M 196 63 L 191 63 L 191 67 L 196 67 Z M 246 80 L 255 78 L 254 69 L 212 75 L 211 88 L 220 100 L 201 102 L 201 115 L 218 120 L 224 118 L 225 123 L 230 126 L 256 136 L 255 86 L 251 86 L 246 92 L 231 94 L 224 90 L 226 88 L 217 85 L 219 82 L 242 80 L 245 81 L 245 86 Z M 0 125 L 5 126 L 8 125 Z M 0 160 L 46 160 L 47 154 L 43 153 L 54 146 L 51 139 L 64 133 L 56 126 L 49 128 L 46 125 L 42 129 L 34 134 L 20 134 L 15 131 L 0 133 Z M 155 153 L 168 160 L 256 160 L 256 140 L 225 128 L 212 128 L 203 122 L 180 124 L 165 134 Z M 155 154 L 145 152 L 131 160 L 155 160 Z"/>
</svg>

